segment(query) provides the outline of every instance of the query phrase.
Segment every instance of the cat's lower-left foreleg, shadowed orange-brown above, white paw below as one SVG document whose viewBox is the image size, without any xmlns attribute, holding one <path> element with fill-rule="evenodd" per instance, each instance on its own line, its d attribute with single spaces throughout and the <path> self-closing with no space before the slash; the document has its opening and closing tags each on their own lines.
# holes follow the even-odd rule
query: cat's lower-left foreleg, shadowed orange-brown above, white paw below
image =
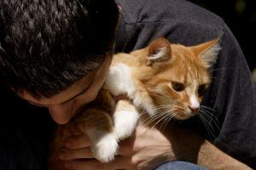
<svg viewBox="0 0 256 170">
<path fill-rule="evenodd" d="M 84 111 L 84 121 L 80 123 L 90 138 L 90 148 L 97 160 L 112 161 L 118 148 L 118 139 L 113 133 L 113 121 L 107 112 L 96 109 Z M 81 130 L 82 130 L 81 129 Z"/>
</svg>

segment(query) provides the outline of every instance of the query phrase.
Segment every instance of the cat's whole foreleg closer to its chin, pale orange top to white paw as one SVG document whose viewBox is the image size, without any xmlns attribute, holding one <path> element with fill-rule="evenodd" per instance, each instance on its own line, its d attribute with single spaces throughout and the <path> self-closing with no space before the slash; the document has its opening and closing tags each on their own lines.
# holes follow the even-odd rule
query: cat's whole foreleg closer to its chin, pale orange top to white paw
<svg viewBox="0 0 256 170">
<path fill-rule="evenodd" d="M 139 113 L 134 105 L 128 100 L 119 100 L 113 113 L 114 133 L 118 139 L 125 139 L 131 136 L 137 121 Z"/>
</svg>

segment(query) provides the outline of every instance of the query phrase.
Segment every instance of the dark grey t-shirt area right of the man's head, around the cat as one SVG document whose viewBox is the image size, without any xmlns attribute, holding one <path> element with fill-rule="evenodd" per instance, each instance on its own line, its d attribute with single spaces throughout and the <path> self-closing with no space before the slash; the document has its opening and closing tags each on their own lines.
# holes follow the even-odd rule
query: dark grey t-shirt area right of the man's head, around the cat
<svg viewBox="0 0 256 170">
<path fill-rule="evenodd" d="M 143 48 L 157 37 L 184 45 L 223 38 L 217 64 L 211 69 L 212 87 L 201 104 L 211 108 L 207 111 L 214 116 L 208 114 L 208 127 L 199 116 L 186 126 L 256 168 L 256 88 L 241 48 L 224 20 L 183 0 L 116 2 L 122 11 L 117 51 Z"/>
</svg>

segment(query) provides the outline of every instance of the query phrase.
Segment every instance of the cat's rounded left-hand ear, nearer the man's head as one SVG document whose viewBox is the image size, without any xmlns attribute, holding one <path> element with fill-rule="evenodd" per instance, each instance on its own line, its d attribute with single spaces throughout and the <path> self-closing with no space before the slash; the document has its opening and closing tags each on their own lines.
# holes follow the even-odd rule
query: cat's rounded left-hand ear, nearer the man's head
<svg viewBox="0 0 256 170">
<path fill-rule="evenodd" d="M 148 47 L 148 65 L 165 62 L 172 58 L 170 42 L 166 38 L 159 38 L 151 42 Z"/>
</svg>

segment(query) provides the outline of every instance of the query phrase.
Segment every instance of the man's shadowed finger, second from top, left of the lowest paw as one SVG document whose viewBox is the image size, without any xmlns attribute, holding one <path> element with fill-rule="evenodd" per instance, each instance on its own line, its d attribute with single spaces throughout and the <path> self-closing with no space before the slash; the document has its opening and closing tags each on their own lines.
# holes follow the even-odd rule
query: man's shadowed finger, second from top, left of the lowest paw
<svg viewBox="0 0 256 170">
<path fill-rule="evenodd" d="M 75 160 L 83 158 L 93 158 L 90 147 L 81 148 L 81 149 L 62 149 L 59 153 L 59 158 L 61 160 Z"/>
</svg>

